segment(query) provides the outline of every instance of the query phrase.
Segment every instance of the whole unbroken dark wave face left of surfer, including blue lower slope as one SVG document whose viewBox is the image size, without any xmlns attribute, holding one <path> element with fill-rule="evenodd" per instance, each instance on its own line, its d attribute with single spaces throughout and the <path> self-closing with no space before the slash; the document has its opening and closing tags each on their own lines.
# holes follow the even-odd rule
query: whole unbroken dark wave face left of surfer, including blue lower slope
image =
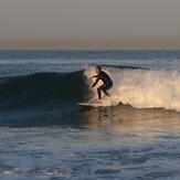
<svg viewBox="0 0 180 180">
<path fill-rule="evenodd" d="M 0 78 L 0 126 L 73 124 L 85 88 L 83 71 Z"/>
</svg>

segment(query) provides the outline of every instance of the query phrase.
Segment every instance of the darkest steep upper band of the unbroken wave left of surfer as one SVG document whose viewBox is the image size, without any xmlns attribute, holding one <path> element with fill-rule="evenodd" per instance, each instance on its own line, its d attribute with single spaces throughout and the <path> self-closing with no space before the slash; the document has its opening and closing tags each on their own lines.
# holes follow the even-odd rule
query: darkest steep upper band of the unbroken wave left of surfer
<svg viewBox="0 0 180 180">
<path fill-rule="evenodd" d="M 84 93 L 83 86 L 83 72 L 6 77 L 0 81 L 0 100 L 3 106 L 11 102 L 17 107 L 44 104 L 53 99 L 74 102 Z"/>
</svg>

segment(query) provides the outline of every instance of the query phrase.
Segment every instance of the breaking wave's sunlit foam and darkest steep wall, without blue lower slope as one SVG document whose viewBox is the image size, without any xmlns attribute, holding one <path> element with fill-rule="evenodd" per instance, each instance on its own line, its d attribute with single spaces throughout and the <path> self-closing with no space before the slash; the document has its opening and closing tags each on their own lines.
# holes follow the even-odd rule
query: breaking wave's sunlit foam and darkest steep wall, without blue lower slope
<svg viewBox="0 0 180 180">
<path fill-rule="evenodd" d="M 177 71 L 149 71 L 146 68 L 103 66 L 114 81 L 105 97 L 105 106 L 119 103 L 136 108 L 165 108 L 180 110 L 180 73 Z M 0 108 L 29 108 L 51 102 L 76 104 L 97 98 L 96 87 L 89 94 L 89 77 L 94 65 L 85 71 L 67 74 L 39 73 L 27 76 L 0 78 Z M 97 86 L 100 85 L 100 82 Z"/>
</svg>

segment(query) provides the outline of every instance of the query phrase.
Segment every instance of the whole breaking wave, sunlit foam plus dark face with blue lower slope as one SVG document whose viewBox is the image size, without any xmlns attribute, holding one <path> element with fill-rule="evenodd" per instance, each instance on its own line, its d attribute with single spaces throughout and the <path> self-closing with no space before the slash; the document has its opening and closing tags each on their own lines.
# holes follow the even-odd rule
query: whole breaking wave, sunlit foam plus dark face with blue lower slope
<svg viewBox="0 0 180 180">
<path fill-rule="evenodd" d="M 127 115 L 131 112 L 130 106 L 180 112 L 179 72 L 115 66 L 103 66 L 103 70 L 114 81 L 110 98 L 104 98 L 103 105 L 107 108 L 125 109 Z M 82 114 L 76 103 L 97 98 L 96 87 L 92 93 L 88 91 L 92 75 L 94 65 L 66 74 L 39 73 L 0 78 L 0 126 L 76 124 Z M 82 115 L 84 119 L 87 113 Z"/>
</svg>

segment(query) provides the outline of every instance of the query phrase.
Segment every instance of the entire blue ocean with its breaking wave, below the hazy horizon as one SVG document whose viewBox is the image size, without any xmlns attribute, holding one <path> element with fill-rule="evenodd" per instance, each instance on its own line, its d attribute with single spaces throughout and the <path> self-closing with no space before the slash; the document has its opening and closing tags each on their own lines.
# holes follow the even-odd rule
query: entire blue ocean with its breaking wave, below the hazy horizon
<svg viewBox="0 0 180 180">
<path fill-rule="evenodd" d="M 179 180 L 180 51 L 0 51 L 0 179 Z"/>
</svg>

